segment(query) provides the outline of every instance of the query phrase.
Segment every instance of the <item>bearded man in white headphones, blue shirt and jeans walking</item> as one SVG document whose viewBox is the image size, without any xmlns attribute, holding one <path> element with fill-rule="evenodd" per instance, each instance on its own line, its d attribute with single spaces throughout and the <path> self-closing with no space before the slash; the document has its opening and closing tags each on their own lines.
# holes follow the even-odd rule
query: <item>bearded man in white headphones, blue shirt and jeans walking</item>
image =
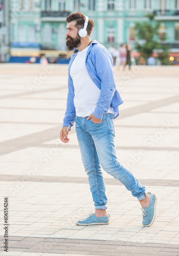
<svg viewBox="0 0 179 256">
<path fill-rule="evenodd" d="M 95 212 L 77 225 L 108 224 L 107 197 L 102 168 L 131 191 L 142 205 L 143 225 L 155 218 L 156 196 L 141 185 L 133 174 L 118 162 L 115 147 L 114 118 L 123 103 L 115 86 L 113 59 L 98 41 L 90 39 L 94 22 L 80 12 L 66 18 L 66 47 L 78 47 L 69 63 L 68 99 L 60 139 L 68 143 L 74 122 L 84 169 L 95 202 Z M 101 166 L 100 166 L 101 165 Z"/>
</svg>

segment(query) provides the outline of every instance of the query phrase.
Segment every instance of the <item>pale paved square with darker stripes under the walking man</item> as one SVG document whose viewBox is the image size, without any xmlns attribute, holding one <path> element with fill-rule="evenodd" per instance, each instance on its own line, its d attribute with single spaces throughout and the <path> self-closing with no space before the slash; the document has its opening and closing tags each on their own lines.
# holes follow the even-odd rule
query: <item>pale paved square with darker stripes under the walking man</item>
<svg viewBox="0 0 179 256">
<path fill-rule="evenodd" d="M 124 100 L 115 119 L 117 156 L 158 196 L 151 227 L 142 226 L 139 202 L 104 171 L 110 224 L 75 224 L 94 203 L 75 127 L 70 143 L 59 140 L 68 66 L 0 67 L 0 256 L 179 255 L 178 67 L 115 67 Z"/>
</svg>

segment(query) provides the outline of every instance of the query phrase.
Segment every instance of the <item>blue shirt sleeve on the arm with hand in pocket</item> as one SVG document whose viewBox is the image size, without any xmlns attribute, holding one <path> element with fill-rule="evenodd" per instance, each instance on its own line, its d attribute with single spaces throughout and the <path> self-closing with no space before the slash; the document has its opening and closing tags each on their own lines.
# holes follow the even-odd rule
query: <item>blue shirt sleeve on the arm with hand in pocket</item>
<svg viewBox="0 0 179 256">
<path fill-rule="evenodd" d="M 93 115 L 102 119 L 103 113 L 106 113 L 109 109 L 116 90 L 113 59 L 107 49 L 100 48 L 97 50 L 95 54 L 95 69 L 101 80 L 101 91 Z"/>
</svg>

